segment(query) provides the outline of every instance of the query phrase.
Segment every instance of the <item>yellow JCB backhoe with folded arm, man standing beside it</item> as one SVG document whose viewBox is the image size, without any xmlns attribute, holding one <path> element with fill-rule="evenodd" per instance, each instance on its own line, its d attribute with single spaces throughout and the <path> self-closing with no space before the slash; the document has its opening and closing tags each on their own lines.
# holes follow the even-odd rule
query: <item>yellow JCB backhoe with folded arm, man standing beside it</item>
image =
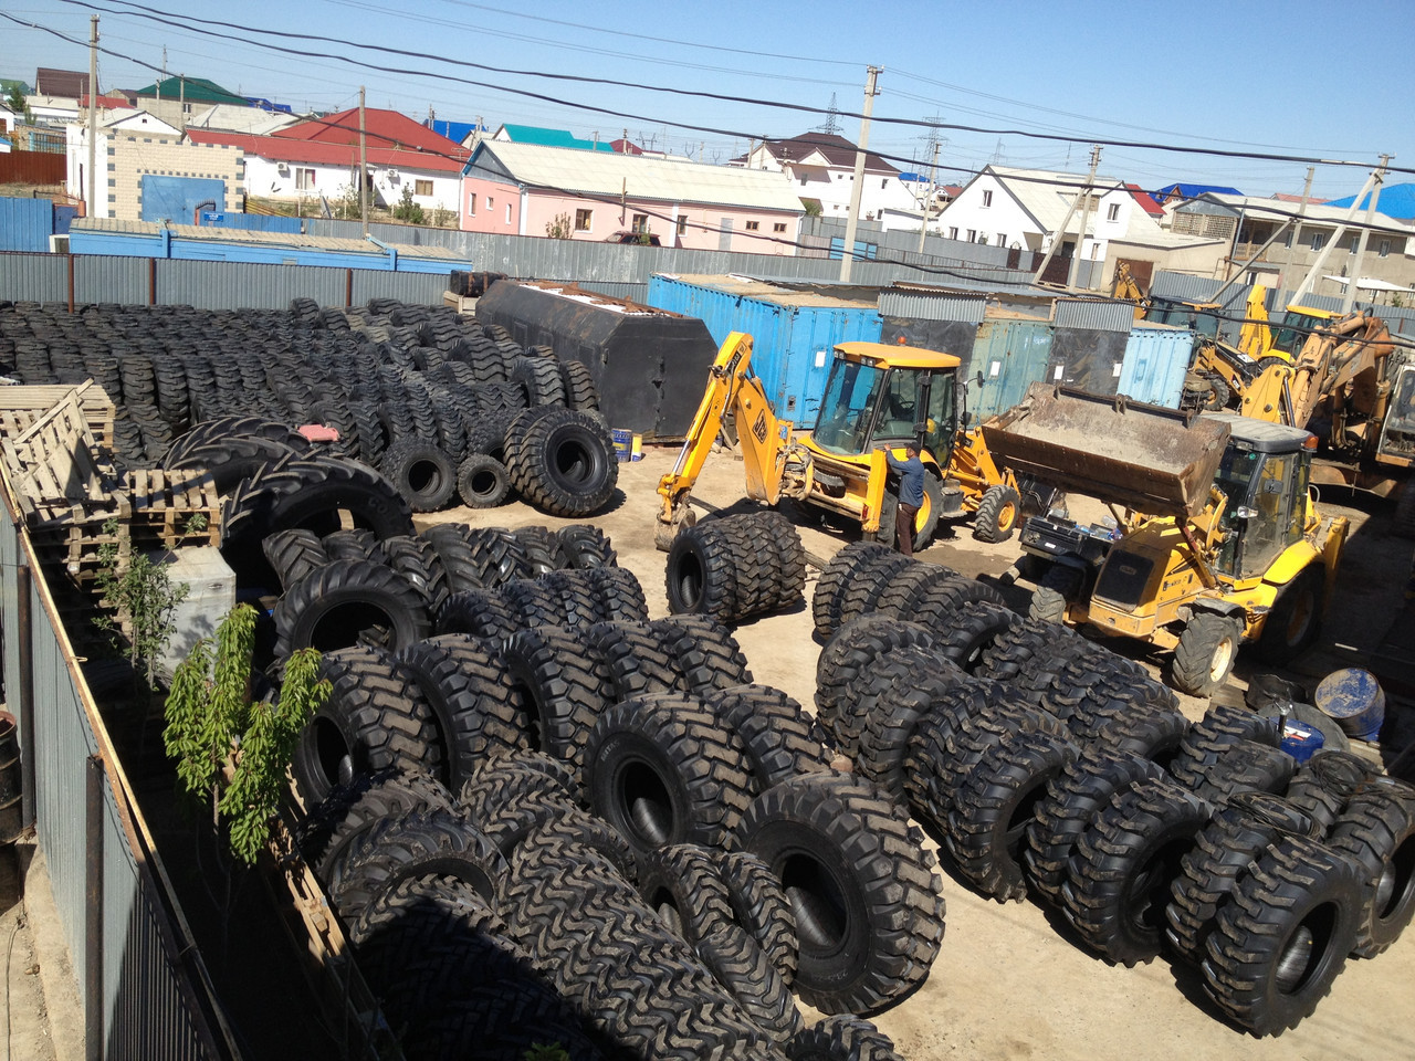
<svg viewBox="0 0 1415 1061">
<path fill-rule="evenodd" d="M 911 441 L 925 472 L 914 547 L 932 540 L 940 519 L 968 511 L 975 533 L 981 528 L 990 535 L 986 540 L 1003 540 L 1017 523 L 1019 494 L 981 433 L 976 439 L 959 433 L 958 364 L 954 355 L 931 349 L 842 342 L 815 426 L 797 433 L 794 423 L 777 419 L 751 372 L 751 337 L 732 332 L 717 351 L 678 461 L 658 485 L 655 543 L 669 549 L 679 528 L 693 522 L 691 491 L 724 423 L 741 447 L 750 498 L 805 504 L 893 543 L 899 495 L 882 447 L 903 456 Z"/>
</svg>

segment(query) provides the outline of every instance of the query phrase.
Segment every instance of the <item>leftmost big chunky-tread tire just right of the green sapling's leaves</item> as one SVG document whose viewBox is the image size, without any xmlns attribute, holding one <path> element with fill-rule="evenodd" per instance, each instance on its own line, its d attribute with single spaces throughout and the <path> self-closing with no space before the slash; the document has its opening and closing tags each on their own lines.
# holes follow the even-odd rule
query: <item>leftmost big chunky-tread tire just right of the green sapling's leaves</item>
<svg viewBox="0 0 1415 1061">
<path fill-rule="evenodd" d="M 325 652 L 320 678 L 331 692 L 300 733 L 290 772 L 306 804 L 324 799 L 358 774 L 393 768 L 439 772 L 441 747 L 432 709 L 393 671 L 386 652 Z"/>
</svg>

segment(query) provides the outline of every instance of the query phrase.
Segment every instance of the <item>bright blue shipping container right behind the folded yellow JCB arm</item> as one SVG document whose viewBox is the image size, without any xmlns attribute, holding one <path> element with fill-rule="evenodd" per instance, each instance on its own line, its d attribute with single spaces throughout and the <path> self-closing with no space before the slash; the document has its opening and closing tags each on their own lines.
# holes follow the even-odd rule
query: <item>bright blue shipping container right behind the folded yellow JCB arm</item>
<svg viewBox="0 0 1415 1061">
<path fill-rule="evenodd" d="M 807 429 L 821 410 L 835 345 L 879 342 L 883 327 L 879 310 L 867 303 L 733 276 L 655 273 L 648 304 L 698 317 L 719 347 L 734 331 L 751 335 L 751 368 L 771 407 Z"/>
</svg>

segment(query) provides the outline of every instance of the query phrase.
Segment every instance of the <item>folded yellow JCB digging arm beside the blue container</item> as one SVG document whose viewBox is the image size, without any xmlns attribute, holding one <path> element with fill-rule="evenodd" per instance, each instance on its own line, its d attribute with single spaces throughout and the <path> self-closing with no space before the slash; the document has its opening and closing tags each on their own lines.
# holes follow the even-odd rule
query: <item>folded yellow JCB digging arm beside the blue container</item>
<svg viewBox="0 0 1415 1061">
<path fill-rule="evenodd" d="M 682 526 L 692 526 L 689 497 L 727 416 L 736 424 L 741 446 L 747 497 L 775 504 L 781 497 L 785 458 L 792 450 L 792 424 L 777 420 L 771 410 L 761 382 L 751 372 L 751 337 L 741 331 L 732 332 L 717 351 L 683 448 L 674 470 L 659 480 L 662 505 L 654 528 L 654 543 L 659 549 L 666 550 Z"/>
</svg>

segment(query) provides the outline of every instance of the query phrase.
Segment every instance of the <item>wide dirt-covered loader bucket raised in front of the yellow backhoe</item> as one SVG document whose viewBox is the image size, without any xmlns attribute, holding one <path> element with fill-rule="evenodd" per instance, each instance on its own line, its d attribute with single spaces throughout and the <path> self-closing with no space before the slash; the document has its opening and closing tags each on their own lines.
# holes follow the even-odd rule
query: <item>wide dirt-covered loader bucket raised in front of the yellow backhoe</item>
<svg viewBox="0 0 1415 1061">
<path fill-rule="evenodd" d="M 1033 383 L 982 424 L 993 457 L 1017 475 L 1159 516 L 1208 504 L 1228 444 L 1225 423 L 1157 405 Z"/>
</svg>

